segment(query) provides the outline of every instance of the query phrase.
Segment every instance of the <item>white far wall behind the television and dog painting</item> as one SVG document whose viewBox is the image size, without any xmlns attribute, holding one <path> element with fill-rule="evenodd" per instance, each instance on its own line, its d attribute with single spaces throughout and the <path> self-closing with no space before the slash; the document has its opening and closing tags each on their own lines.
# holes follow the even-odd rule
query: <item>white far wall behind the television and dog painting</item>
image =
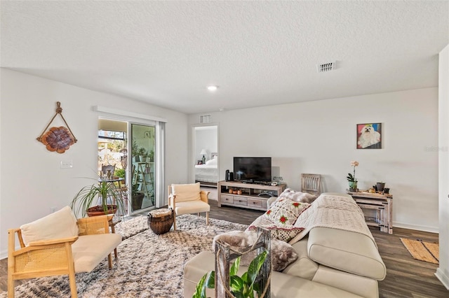
<svg viewBox="0 0 449 298">
<path fill-rule="evenodd" d="M 438 231 L 438 89 L 426 88 L 211 113 L 220 124 L 220 180 L 234 156 L 271 156 L 295 190 L 301 173 L 344 192 L 357 160 L 358 187 L 386 182 L 395 227 Z M 199 115 L 189 115 L 194 125 Z M 382 123 L 382 149 L 357 150 L 356 125 Z"/>
</svg>

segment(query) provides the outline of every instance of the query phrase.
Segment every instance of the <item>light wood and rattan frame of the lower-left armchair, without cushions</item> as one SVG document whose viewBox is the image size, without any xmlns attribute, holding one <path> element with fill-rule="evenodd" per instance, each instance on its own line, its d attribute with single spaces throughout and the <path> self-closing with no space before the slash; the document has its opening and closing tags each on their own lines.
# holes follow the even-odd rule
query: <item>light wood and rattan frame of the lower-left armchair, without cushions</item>
<svg viewBox="0 0 449 298">
<path fill-rule="evenodd" d="M 100 215 L 77 220 L 79 236 L 108 234 L 109 220 L 114 215 Z M 20 248 L 15 250 L 15 235 L 18 236 Z M 62 239 L 50 239 L 25 243 L 20 229 L 8 229 L 8 298 L 15 295 L 15 281 L 26 278 L 69 276 L 70 293 L 78 297 L 75 281 L 75 267 L 72 255 L 72 243 L 79 236 Z M 112 254 L 107 256 L 109 269 L 112 269 Z"/>
</svg>

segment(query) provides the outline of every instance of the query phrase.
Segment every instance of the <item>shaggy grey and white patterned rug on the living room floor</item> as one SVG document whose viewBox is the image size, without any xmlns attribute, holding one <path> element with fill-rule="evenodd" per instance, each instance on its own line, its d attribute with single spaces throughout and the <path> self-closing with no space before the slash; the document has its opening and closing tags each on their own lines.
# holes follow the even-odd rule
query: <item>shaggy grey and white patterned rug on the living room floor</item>
<svg viewBox="0 0 449 298">
<path fill-rule="evenodd" d="M 209 220 L 196 215 L 180 215 L 177 230 L 156 235 L 140 216 L 116 225 L 126 235 L 117 247 L 119 258 L 109 270 L 105 259 L 90 273 L 76 274 L 78 297 L 182 297 L 184 265 L 203 250 L 212 251 L 213 237 L 246 225 L 225 220 Z M 113 257 L 114 259 L 114 257 Z M 0 297 L 5 298 L 6 292 Z M 15 287 L 16 298 L 70 297 L 69 278 L 34 278 Z"/>
</svg>

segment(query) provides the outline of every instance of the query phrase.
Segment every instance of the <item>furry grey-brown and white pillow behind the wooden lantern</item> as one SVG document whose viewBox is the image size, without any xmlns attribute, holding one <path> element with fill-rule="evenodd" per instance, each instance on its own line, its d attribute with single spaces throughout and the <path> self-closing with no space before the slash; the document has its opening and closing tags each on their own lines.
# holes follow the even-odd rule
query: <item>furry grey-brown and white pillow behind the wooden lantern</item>
<svg viewBox="0 0 449 298">
<path fill-rule="evenodd" d="M 212 248 L 215 251 L 215 241 L 221 240 L 234 250 L 242 251 L 242 248 L 248 248 L 257 241 L 256 232 L 242 232 L 242 231 L 232 231 L 217 235 L 213 239 Z M 279 241 L 277 239 L 271 239 L 271 255 L 272 255 L 272 269 L 274 271 L 282 271 L 286 267 L 297 260 L 297 253 L 293 246 L 290 244 Z M 241 256 L 240 264 L 243 266 L 248 266 L 252 260 L 256 257 L 256 250 L 251 250 L 245 255 Z"/>
</svg>

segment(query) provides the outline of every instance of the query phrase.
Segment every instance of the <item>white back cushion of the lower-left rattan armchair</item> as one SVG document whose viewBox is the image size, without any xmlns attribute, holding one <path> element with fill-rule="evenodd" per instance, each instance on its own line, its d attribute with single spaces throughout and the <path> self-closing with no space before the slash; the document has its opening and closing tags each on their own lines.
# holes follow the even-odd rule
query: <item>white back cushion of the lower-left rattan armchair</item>
<svg viewBox="0 0 449 298">
<path fill-rule="evenodd" d="M 69 206 L 20 226 L 25 245 L 32 241 L 78 236 L 76 217 Z"/>
</svg>

